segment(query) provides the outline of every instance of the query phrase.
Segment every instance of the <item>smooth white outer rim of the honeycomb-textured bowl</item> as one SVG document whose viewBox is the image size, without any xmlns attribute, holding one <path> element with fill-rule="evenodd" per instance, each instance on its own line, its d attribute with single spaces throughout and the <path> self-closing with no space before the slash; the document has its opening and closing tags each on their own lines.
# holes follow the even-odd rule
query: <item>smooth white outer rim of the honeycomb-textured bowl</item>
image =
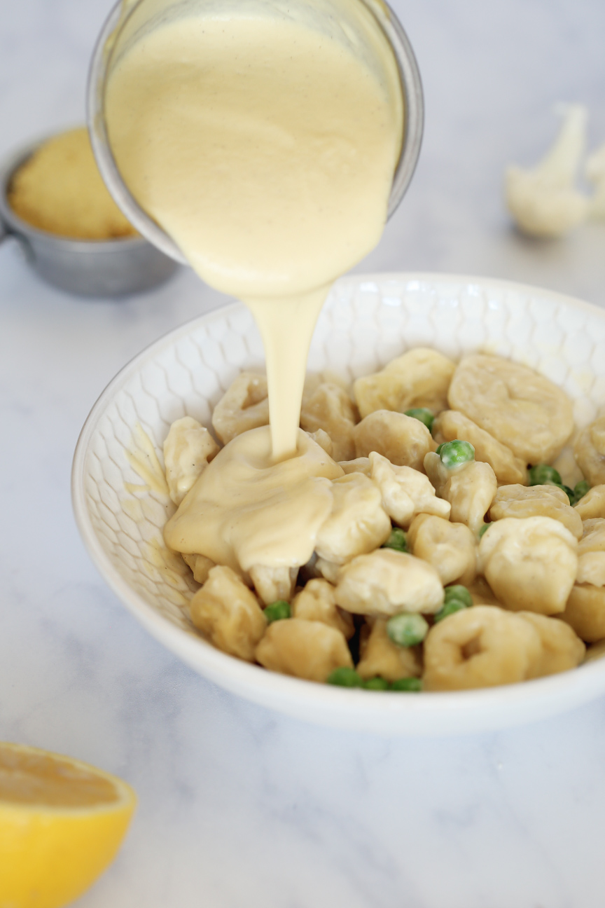
<svg viewBox="0 0 605 908">
<path fill-rule="evenodd" d="M 419 281 L 429 284 L 447 283 L 449 285 L 457 283 L 466 286 L 475 285 L 485 291 L 497 288 L 501 291 L 521 291 L 525 294 L 546 294 L 553 301 L 565 303 L 573 309 L 586 311 L 593 316 L 595 313 L 599 313 L 599 317 L 605 320 L 605 311 L 599 306 L 558 291 L 551 291 L 519 281 L 449 272 L 385 271 L 355 274 L 341 278 L 333 285 L 331 292 L 338 285 L 342 286 L 345 283 L 359 285 L 372 281 L 400 281 L 405 283 Z M 460 734 L 463 734 L 467 730 L 464 728 L 464 716 L 480 708 L 485 710 L 486 707 L 492 710 L 493 721 L 492 723 L 490 723 L 489 719 L 484 721 L 482 723 L 484 730 L 502 728 L 507 725 L 522 725 L 525 722 L 535 721 L 532 716 L 529 718 L 517 716 L 517 710 L 527 703 L 528 696 L 532 696 L 534 700 L 542 703 L 544 708 L 542 709 L 541 717 L 545 718 L 559 714 L 566 708 L 580 706 L 605 692 L 605 663 L 600 665 L 600 659 L 595 659 L 567 672 L 535 678 L 522 683 L 474 690 L 423 692 L 422 696 L 395 696 L 395 694 L 391 694 L 381 697 L 376 696 L 379 693 L 376 691 L 316 684 L 304 679 L 267 671 L 261 666 L 243 662 L 234 656 L 221 652 L 202 637 L 195 637 L 181 627 L 172 624 L 167 618 L 162 617 L 128 585 L 119 571 L 113 567 L 110 558 L 105 554 L 102 545 L 98 541 L 86 507 L 83 486 L 84 468 L 88 455 L 88 446 L 97 428 L 98 421 L 102 417 L 108 403 L 112 400 L 114 393 L 122 387 L 134 372 L 141 368 L 146 360 L 151 360 L 161 350 L 170 347 L 173 343 L 195 330 L 198 325 L 217 319 L 222 320 L 223 318 L 228 318 L 230 314 L 245 310 L 245 305 L 238 301 L 220 304 L 167 332 L 156 341 L 152 341 L 151 344 L 132 357 L 102 390 L 83 424 L 83 429 L 76 444 L 71 477 L 73 514 L 76 525 L 83 538 L 84 546 L 88 550 L 93 564 L 101 573 L 103 580 L 122 604 L 140 621 L 143 627 L 146 627 L 151 635 L 159 640 L 163 646 L 167 646 L 176 655 L 181 656 L 187 664 L 194 667 L 199 674 L 209 678 L 210 681 L 257 703 L 263 702 L 267 705 L 269 701 L 273 701 L 276 705 L 274 708 L 280 712 L 288 710 L 280 709 L 277 704 L 285 699 L 291 700 L 294 698 L 301 707 L 300 712 L 306 712 L 309 715 L 311 713 L 314 714 L 313 721 L 323 725 L 338 727 L 338 723 L 334 721 L 334 714 L 337 710 L 344 716 L 344 721 L 340 727 L 353 728 L 356 726 L 355 716 L 358 708 L 361 706 L 366 708 L 371 702 L 377 718 L 376 731 L 379 734 L 385 734 L 383 730 L 384 721 L 381 721 L 381 719 L 384 720 L 385 716 L 397 716 L 400 719 L 400 724 L 395 725 L 388 734 L 457 734 L 458 732 L 452 730 L 451 726 L 454 725 L 452 722 L 448 723 L 448 728 L 445 730 L 427 727 L 419 731 L 418 727 L 415 727 L 414 721 L 412 721 L 413 727 L 409 728 L 405 727 L 405 722 L 401 721 L 405 716 L 414 720 L 415 716 L 421 715 L 425 717 L 426 725 L 430 725 L 431 717 L 441 717 L 444 715 L 444 711 L 454 718 L 456 716 L 461 717 L 463 722 Z M 200 646 L 203 647 L 205 654 L 203 670 L 199 666 Z M 246 688 L 249 684 L 262 692 L 262 701 L 257 696 L 248 696 L 246 694 Z M 583 691 L 579 690 L 581 687 L 584 688 Z M 502 716 L 507 717 L 505 721 L 503 721 Z M 365 725 L 367 726 L 367 723 Z M 472 731 L 473 728 L 469 730 Z"/>
</svg>

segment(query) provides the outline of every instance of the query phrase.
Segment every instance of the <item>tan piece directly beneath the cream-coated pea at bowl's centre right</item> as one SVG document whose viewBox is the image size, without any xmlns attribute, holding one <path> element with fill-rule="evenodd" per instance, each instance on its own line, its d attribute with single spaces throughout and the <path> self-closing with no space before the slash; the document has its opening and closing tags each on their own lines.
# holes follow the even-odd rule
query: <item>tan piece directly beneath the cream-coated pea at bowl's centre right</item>
<svg viewBox="0 0 605 908">
<path fill-rule="evenodd" d="M 430 451 L 424 458 L 424 469 L 439 498 L 450 502 L 450 519 L 478 533 L 498 489 L 489 463 L 470 460 L 448 469 L 439 455 Z"/>
</svg>

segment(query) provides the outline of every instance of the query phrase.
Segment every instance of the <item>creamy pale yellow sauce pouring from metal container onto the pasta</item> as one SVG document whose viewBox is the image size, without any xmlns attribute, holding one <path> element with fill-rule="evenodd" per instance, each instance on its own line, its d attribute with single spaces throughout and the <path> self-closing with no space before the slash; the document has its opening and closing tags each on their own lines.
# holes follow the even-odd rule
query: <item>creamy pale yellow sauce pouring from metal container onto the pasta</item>
<svg viewBox="0 0 605 908">
<path fill-rule="evenodd" d="M 165 22 L 116 53 L 106 90 L 132 194 L 265 345 L 270 440 L 231 441 L 165 531 L 243 570 L 303 564 L 330 511 L 339 468 L 298 429 L 307 351 L 330 283 L 380 238 L 401 146 L 385 36 L 362 4 L 320 6 Z"/>
</svg>

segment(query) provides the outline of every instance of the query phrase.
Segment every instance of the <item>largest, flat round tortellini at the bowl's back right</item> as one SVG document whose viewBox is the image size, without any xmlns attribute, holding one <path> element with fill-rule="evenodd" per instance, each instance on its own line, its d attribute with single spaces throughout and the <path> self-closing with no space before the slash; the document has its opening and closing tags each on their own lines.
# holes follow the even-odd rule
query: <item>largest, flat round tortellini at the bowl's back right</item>
<svg viewBox="0 0 605 908">
<path fill-rule="evenodd" d="M 448 400 L 452 410 L 473 419 L 525 463 L 549 463 L 573 431 L 565 392 L 527 366 L 498 356 L 464 357 Z"/>
</svg>

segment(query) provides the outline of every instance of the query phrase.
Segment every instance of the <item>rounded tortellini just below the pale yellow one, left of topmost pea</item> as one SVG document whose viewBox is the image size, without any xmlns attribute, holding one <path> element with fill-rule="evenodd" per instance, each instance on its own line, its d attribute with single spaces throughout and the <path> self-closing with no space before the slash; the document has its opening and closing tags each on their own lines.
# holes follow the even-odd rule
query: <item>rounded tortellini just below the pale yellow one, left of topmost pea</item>
<svg viewBox="0 0 605 908">
<path fill-rule="evenodd" d="M 397 467 L 419 470 L 423 469 L 424 456 L 436 447 L 424 423 L 391 410 L 370 413 L 356 425 L 353 437 L 356 457 L 377 451 Z"/>
</svg>

